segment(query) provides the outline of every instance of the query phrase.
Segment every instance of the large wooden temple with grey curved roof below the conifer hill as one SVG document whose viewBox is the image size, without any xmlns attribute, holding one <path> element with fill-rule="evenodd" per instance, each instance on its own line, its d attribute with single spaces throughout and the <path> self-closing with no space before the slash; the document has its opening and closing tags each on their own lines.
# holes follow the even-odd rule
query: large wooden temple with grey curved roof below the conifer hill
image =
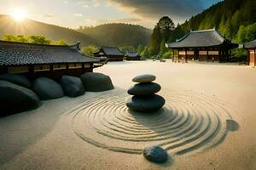
<svg viewBox="0 0 256 170">
<path fill-rule="evenodd" d="M 224 62 L 230 59 L 231 49 L 237 48 L 238 44 L 232 43 L 213 28 L 211 30 L 190 31 L 176 42 L 166 44 L 166 47 L 174 49 L 173 61 Z M 175 50 L 177 51 L 176 54 Z"/>
</svg>

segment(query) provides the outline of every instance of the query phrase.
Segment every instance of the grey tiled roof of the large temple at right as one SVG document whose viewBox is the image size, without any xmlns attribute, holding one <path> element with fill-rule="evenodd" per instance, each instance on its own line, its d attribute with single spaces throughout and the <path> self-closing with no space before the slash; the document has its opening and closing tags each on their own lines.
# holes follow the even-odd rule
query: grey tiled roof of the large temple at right
<svg viewBox="0 0 256 170">
<path fill-rule="evenodd" d="M 177 40 L 166 44 L 169 48 L 199 48 L 199 47 L 212 47 L 229 42 L 215 29 L 203 31 L 190 31 L 189 34 Z"/>
</svg>

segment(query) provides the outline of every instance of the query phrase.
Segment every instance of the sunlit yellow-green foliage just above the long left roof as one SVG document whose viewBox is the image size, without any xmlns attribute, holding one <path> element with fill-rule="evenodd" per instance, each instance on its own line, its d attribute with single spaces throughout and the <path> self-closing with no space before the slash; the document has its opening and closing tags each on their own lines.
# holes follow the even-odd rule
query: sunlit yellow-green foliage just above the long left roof
<svg viewBox="0 0 256 170">
<path fill-rule="evenodd" d="M 26 42 L 26 43 L 36 43 L 36 44 L 54 44 L 54 45 L 67 45 L 66 42 L 60 40 L 60 41 L 52 41 L 47 37 L 44 36 L 23 36 L 23 35 L 4 35 L 2 38 L 3 41 L 9 41 L 9 42 Z"/>
</svg>

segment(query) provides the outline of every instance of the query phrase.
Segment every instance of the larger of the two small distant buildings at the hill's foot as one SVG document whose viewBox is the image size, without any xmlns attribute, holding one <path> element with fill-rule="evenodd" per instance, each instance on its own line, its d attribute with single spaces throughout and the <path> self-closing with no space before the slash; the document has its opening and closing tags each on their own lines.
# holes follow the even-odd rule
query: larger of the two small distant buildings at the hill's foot
<svg viewBox="0 0 256 170">
<path fill-rule="evenodd" d="M 105 46 L 102 46 L 98 52 L 93 54 L 96 58 L 107 58 L 108 61 L 123 61 L 125 57 L 119 48 Z"/>
</svg>

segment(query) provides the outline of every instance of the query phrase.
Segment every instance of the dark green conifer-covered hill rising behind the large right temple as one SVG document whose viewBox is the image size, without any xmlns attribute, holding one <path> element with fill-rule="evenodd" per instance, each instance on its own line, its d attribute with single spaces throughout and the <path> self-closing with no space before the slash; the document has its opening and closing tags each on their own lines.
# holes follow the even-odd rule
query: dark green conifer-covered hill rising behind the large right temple
<svg viewBox="0 0 256 170">
<path fill-rule="evenodd" d="M 177 26 L 169 41 L 175 41 L 190 29 L 204 30 L 213 27 L 233 41 L 251 41 L 256 38 L 255 11 L 255 0 L 224 0 Z"/>
</svg>

